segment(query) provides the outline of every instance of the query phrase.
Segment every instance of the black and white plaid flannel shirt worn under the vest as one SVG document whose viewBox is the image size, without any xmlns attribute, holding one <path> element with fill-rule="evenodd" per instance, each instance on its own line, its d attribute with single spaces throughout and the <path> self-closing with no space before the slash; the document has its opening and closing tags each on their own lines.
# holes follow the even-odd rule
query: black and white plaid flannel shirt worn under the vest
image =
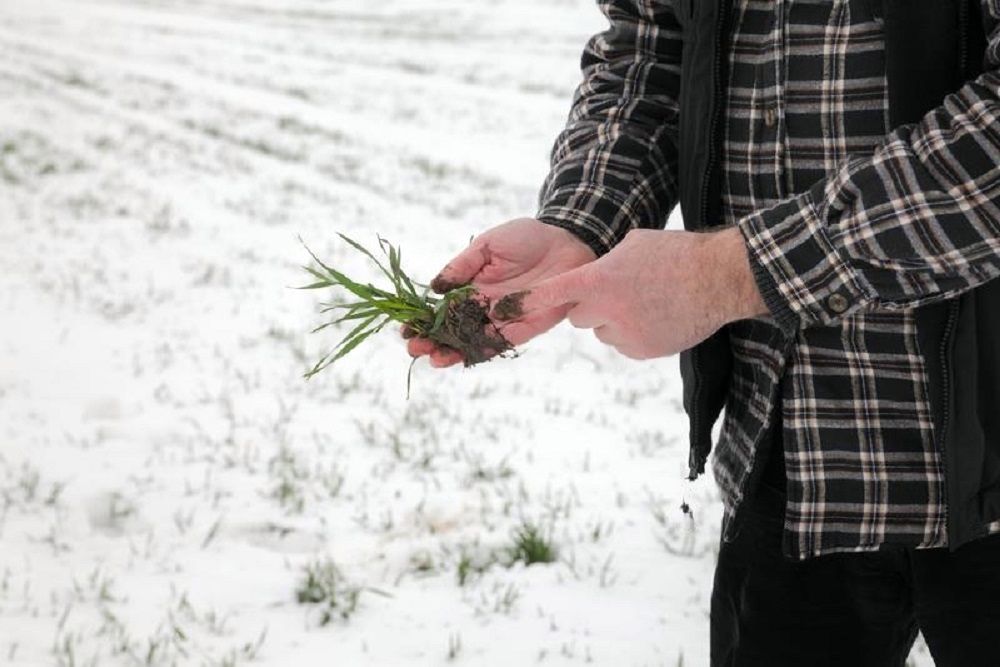
<svg viewBox="0 0 1000 667">
<path fill-rule="evenodd" d="M 672 0 L 598 4 L 611 29 L 584 51 L 537 217 L 603 254 L 677 201 L 681 30 Z M 911 311 L 1000 275 L 1000 0 L 982 0 L 985 72 L 895 129 L 871 4 L 734 0 L 730 22 L 720 222 L 770 313 L 727 325 L 713 472 L 731 518 L 780 406 L 800 559 L 947 544 Z"/>
</svg>

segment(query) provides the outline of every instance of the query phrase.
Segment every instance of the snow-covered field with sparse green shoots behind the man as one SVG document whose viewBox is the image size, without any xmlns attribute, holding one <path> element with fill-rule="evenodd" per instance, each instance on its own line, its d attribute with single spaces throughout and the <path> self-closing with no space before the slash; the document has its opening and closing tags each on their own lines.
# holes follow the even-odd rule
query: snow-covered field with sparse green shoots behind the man
<svg viewBox="0 0 1000 667">
<path fill-rule="evenodd" d="M 533 213 L 602 27 L 0 2 L 0 664 L 707 664 L 721 508 L 676 358 L 564 326 L 407 401 L 385 335 L 301 377 L 335 336 L 296 237 L 365 275 L 335 232 L 380 233 L 426 280 Z M 510 562 L 525 526 L 555 562 Z"/>
</svg>

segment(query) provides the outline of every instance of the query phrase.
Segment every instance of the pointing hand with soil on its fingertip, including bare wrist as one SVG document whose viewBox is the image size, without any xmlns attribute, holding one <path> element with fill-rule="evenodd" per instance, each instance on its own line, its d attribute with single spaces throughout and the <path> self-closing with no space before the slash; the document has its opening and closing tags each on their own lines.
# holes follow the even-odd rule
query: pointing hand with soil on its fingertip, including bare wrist
<svg viewBox="0 0 1000 667">
<path fill-rule="evenodd" d="M 563 313 L 633 359 L 670 356 L 768 313 L 740 231 L 633 230 L 595 262 L 515 295 L 524 321 Z M 493 317 L 509 319 L 494 308 Z M 512 325 L 511 325 L 512 326 Z"/>
</svg>

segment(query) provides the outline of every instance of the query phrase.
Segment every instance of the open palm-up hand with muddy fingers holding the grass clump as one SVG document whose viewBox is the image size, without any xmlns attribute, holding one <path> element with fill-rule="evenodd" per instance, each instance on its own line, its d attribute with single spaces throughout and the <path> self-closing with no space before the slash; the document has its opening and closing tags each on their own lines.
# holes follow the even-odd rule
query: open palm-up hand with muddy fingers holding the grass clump
<svg viewBox="0 0 1000 667">
<path fill-rule="evenodd" d="M 571 232 L 531 218 L 520 218 L 473 239 L 469 247 L 448 262 L 431 281 L 431 288 L 443 294 L 471 282 L 492 302 L 596 258 L 594 251 Z M 560 306 L 532 313 L 530 317 L 499 325 L 500 331 L 512 345 L 521 345 L 554 327 L 568 311 L 569 306 Z M 429 355 L 431 365 L 437 368 L 462 361 L 461 355 L 454 350 L 443 349 L 427 338 L 410 338 L 407 350 L 414 357 Z"/>
</svg>

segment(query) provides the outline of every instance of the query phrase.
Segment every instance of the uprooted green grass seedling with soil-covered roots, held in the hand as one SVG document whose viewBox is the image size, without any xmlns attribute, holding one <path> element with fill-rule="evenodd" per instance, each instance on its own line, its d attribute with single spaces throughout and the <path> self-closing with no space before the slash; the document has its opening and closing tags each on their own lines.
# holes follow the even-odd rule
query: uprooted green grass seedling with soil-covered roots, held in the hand
<svg viewBox="0 0 1000 667">
<path fill-rule="evenodd" d="M 356 349 L 386 325 L 404 325 L 407 335 L 423 336 L 440 347 L 461 354 L 466 366 L 487 361 L 513 349 L 510 342 L 489 318 L 489 302 L 472 285 L 459 285 L 444 294 L 433 294 L 428 285 L 411 279 L 402 269 L 402 253 L 391 243 L 378 237 L 384 255 L 379 259 L 357 241 L 338 234 L 348 245 L 370 259 L 388 279 L 388 285 L 352 280 L 323 262 L 303 242 L 306 251 L 318 266 L 303 268 L 314 282 L 298 289 L 338 289 L 349 295 L 347 301 L 321 304 L 322 313 L 335 317 L 313 333 L 336 325 L 349 325 L 347 335 L 305 373 L 311 378 Z M 299 239 L 301 241 L 301 239 Z M 410 366 L 412 370 L 412 364 Z M 409 393 L 407 376 L 407 393 Z"/>
</svg>

